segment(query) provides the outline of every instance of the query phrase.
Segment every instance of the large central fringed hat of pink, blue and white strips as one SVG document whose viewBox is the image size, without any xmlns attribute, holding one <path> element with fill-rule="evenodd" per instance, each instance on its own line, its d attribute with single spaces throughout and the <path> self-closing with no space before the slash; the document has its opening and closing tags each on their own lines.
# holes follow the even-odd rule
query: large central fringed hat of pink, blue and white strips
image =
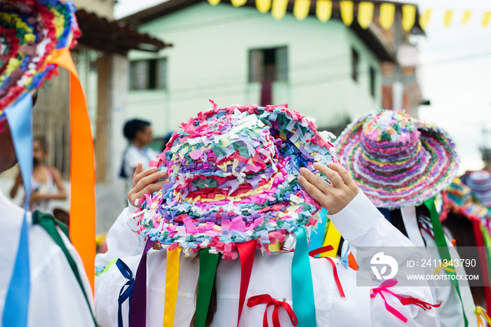
<svg viewBox="0 0 491 327">
<path fill-rule="evenodd" d="M 287 106 L 214 104 L 183 123 L 152 162 L 170 182 L 142 198 L 140 237 L 209 247 L 227 260 L 237 257 L 237 243 L 252 239 L 268 252 L 284 235 L 316 225 L 321 207 L 297 176 L 301 167 L 314 171 L 313 162 L 337 162 L 332 153 L 328 135 Z"/>
</svg>

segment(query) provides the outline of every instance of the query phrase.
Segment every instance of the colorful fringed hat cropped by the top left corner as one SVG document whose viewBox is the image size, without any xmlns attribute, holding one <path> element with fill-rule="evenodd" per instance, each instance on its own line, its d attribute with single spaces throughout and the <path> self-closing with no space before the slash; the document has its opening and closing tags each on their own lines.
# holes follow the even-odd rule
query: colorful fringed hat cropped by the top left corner
<svg viewBox="0 0 491 327">
<path fill-rule="evenodd" d="M 55 74 L 50 60 L 81 32 L 73 1 L 0 1 L 0 119 L 4 109 Z"/>
</svg>

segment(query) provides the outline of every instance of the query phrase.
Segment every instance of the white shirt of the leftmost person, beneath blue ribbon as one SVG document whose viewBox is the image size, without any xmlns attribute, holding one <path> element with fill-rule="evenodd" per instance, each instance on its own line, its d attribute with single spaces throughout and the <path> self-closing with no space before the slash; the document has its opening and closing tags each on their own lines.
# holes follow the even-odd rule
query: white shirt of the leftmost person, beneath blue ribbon
<svg viewBox="0 0 491 327">
<path fill-rule="evenodd" d="M 4 314 L 23 216 L 24 210 L 0 191 L 0 317 Z M 27 222 L 31 279 L 27 326 L 94 326 L 86 298 L 62 249 L 40 225 L 32 225 L 30 213 Z M 90 300 L 92 292 L 79 254 L 65 234 L 60 232 L 60 235 L 76 261 Z"/>
</svg>

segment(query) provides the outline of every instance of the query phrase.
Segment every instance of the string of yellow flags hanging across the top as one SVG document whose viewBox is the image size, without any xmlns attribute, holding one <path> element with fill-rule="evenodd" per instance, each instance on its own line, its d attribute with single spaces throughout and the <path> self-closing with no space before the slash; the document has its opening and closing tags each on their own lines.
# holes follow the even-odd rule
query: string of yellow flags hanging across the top
<svg viewBox="0 0 491 327">
<path fill-rule="evenodd" d="M 414 4 L 394 4 L 391 2 L 379 2 L 375 4 L 371 1 L 332 1 L 332 0 L 295 0 L 293 5 L 293 15 L 297 20 L 304 20 L 309 15 L 311 6 L 315 1 L 316 17 L 321 22 L 327 22 L 332 17 L 332 3 L 339 4 L 339 12 L 342 22 L 345 25 L 350 26 L 354 20 L 358 21 L 358 24 L 366 29 L 373 20 L 373 13 L 375 6 L 379 6 L 379 24 L 384 29 L 390 29 L 394 25 L 394 18 L 396 15 L 396 7 L 401 6 L 402 20 L 401 25 L 403 29 L 408 32 L 415 26 L 417 19 L 419 18 L 419 27 L 426 28 L 433 13 L 433 9 L 428 8 L 422 11 L 419 15 L 417 12 L 417 6 Z M 220 0 L 208 0 L 212 6 L 216 6 L 220 3 Z M 271 11 L 271 15 L 275 20 L 281 20 L 285 15 L 288 8 L 289 0 L 256 0 L 256 8 L 260 13 L 267 13 Z M 231 0 L 231 4 L 234 7 L 240 7 L 247 3 L 247 0 Z M 358 10 L 355 12 L 355 4 Z M 487 27 L 491 20 L 491 11 L 485 11 L 484 13 L 474 13 L 474 15 L 480 16 L 481 25 Z M 455 20 L 460 20 L 462 25 L 469 22 L 473 16 L 472 11 L 464 11 L 462 17 L 457 17 L 456 11 L 446 10 L 443 16 L 443 24 L 445 27 L 450 26 Z"/>
</svg>

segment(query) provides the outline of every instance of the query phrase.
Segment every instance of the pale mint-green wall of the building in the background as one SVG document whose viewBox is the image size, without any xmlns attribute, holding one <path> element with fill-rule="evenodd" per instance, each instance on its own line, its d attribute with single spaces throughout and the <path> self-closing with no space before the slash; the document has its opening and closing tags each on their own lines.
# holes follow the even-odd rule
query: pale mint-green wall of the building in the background
<svg viewBox="0 0 491 327">
<path fill-rule="evenodd" d="M 167 90 L 130 91 L 128 117 L 151 120 L 163 136 L 211 107 L 260 102 L 260 84 L 248 83 L 248 54 L 253 48 L 288 47 L 288 83 L 274 84 L 273 102 L 288 103 L 317 125 L 330 126 L 381 106 L 379 61 L 339 20 L 299 21 L 291 13 L 280 21 L 255 8 L 199 3 L 139 27 L 173 48 L 168 58 Z M 351 48 L 358 51 L 359 78 L 351 79 Z M 131 52 L 130 59 L 155 55 Z M 377 72 L 370 95 L 369 67 Z"/>
</svg>

